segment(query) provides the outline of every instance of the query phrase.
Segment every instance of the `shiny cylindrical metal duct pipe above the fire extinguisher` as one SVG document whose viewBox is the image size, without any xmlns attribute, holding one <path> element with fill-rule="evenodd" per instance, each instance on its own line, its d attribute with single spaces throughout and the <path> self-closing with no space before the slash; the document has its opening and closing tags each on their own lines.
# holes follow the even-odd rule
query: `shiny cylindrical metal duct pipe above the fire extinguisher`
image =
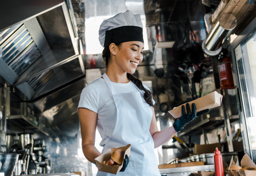
<svg viewBox="0 0 256 176">
<path fill-rule="evenodd" d="M 202 42 L 202 49 L 205 54 L 214 56 L 221 52 L 223 39 L 236 27 L 237 20 L 231 13 L 224 13 L 219 17 L 218 22 L 210 34 Z"/>
</svg>

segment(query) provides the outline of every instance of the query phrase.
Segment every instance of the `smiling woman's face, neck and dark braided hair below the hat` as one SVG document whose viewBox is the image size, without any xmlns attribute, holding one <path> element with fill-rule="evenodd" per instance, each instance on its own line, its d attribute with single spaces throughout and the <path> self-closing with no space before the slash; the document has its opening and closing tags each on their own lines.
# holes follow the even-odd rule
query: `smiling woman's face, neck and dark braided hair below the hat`
<svg viewBox="0 0 256 176">
<path fill-rule="evenodd" d="M 112 75 L 111 73 L 114 73 L 113 76 L 126 74 L 128 80 L 120 83 L 132 81 L 140 90 L 145 92 L 143 97 L 146 103 L 155 109 L 151 91 L 146 89 L 142 82 L 133 75 L 138 64 L 143 60 L 143 49 L 144 43 L 139 41 L 111 43 L 102 51 L 102 58 L 106 64 L 107 75 Z"/>
</svg>

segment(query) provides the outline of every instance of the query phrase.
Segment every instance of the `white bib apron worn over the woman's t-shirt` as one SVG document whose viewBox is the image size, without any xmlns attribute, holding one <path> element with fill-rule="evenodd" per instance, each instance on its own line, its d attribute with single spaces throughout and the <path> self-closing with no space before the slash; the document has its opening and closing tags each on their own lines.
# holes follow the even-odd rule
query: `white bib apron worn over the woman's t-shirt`
<svg viewBox="0 0 256 176">
<path fill-rule="evenodd" d="M 116 94 L 106 73 L 103 75 L 110 88 L 117 109 L 116 126 L 102 153 L 108 149 L 131 144 L 130 162 L 124 172 L 117 176 L 161 176 L 154 153 L 154 141 L 149 132 L 152 108 L 143 98 L 144 92 Z M 97 176 L 114 176 L 98 171 Z"/>
</svg>

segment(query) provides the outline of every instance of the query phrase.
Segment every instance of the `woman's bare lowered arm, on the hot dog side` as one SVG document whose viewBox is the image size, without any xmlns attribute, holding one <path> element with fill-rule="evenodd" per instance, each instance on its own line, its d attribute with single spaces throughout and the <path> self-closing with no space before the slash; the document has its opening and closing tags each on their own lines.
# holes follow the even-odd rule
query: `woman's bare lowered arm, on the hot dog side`
<svg viewBox="0 0 256 176">
<path fill-rule="evenodd" d="M 87 108 L 79 107 L 78 115 L 84 156 L 91 163 L 95 163 L 94 159 L 101 155 L 101 152 L 94 146 L 98 113 Z"/>
</svg>

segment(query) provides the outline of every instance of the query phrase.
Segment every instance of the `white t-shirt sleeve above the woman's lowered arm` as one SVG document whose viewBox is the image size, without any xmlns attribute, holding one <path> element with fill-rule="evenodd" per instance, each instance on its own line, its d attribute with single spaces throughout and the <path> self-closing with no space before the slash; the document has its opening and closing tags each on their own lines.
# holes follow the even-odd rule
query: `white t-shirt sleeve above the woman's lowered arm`
<svg viewBox="0 0 256 176">
<path fill-rule="evenodd" d="M 99 95 L 96 88 L 88 84 L 81 93 L 78 108 L 85 107 L 92 110 L 93 112 L 98 113 L 99 109 Z"/>
</svg>

